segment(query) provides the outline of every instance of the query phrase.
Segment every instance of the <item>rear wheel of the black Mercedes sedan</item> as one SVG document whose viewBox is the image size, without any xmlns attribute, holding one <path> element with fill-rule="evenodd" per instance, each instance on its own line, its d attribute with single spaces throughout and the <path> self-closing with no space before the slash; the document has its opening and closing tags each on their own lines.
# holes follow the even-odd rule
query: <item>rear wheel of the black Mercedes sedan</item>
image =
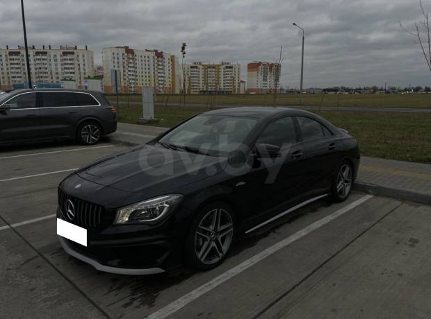
<svg viewBox="0 0 431 319">
<path fill-rule="evenodd" d="M 353 184 L 353 168 L 350 162 L 344 160 L 337 167 L 332 181 L 332 199 L 335 202 L 343 202 L 346 200 L 350 191 L 352 191 Z"/>
</svg>

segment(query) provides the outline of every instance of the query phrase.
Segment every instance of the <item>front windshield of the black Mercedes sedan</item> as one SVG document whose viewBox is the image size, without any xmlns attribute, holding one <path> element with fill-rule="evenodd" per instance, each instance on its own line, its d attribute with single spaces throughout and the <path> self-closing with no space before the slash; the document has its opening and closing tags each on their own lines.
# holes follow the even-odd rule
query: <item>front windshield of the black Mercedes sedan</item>
<svg viewBox="0 0 431 319">
<path fill-rule="evenodd" d="M 170 148 L 215 155 L 237 149 L 257 123 L 249 117 L 198 115 L 158 140 Z"/>
</svg>

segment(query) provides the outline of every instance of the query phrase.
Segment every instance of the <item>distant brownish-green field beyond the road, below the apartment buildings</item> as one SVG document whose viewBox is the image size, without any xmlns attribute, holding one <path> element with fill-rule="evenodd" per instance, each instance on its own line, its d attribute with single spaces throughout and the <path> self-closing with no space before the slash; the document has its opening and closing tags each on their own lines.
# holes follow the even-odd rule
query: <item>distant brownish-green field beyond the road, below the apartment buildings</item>
<svg viewBox="0 0 431 319">
<path fill-rule="evenodd" d="M 115 103 L 115 96 L 108 96 Z M 121 95 L 122 103 L 140 102 L 140 95 Z M 157 95 L 156 103 L 182 104 L 184 96 Z M 186 104 L 200 105 L 273 105 L 272 94 L 186 95 Z M 298 94 L 277 95 L 276 105 L 300 105 Z M 303 105 L 361 107 L 431 107 L 431 94 L 304 94 Z"/>
</svg>

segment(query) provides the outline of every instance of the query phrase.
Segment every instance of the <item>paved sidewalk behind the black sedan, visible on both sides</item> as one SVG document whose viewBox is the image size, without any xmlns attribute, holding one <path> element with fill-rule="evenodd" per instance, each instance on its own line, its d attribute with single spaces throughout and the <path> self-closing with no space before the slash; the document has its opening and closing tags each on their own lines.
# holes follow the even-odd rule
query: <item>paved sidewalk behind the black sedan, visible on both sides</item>
<svg viewBox="0 0 431 319">
<path fill-rule="evenodd" d="M 108 136 L 113 143 L 134 146 L 143 144 L 167 128 L 118 123 L 117 132 Z M 431 164 L 361 157 L 357 191 L 410 200 L 431 205 Z"/>
</svg>

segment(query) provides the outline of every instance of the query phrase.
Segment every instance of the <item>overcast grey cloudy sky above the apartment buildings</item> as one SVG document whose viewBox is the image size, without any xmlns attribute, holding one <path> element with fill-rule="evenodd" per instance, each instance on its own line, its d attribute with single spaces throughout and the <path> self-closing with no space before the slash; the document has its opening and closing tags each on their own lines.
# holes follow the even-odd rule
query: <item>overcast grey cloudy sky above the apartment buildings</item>
<svg viewBox="0 0 431 319">
<path fill-rule="evenodd" d="M 20 1 L 0 0 L 0 47 L 23 45 Z M 431 0 L 423 0 L 431 11 Z M 180 55 L 186 62 L 275 62 L 284 87 L 431 85 L 412 28 L 416 0 L 24 0 L 29 45 L 127 45 Z"/>
</svg>

